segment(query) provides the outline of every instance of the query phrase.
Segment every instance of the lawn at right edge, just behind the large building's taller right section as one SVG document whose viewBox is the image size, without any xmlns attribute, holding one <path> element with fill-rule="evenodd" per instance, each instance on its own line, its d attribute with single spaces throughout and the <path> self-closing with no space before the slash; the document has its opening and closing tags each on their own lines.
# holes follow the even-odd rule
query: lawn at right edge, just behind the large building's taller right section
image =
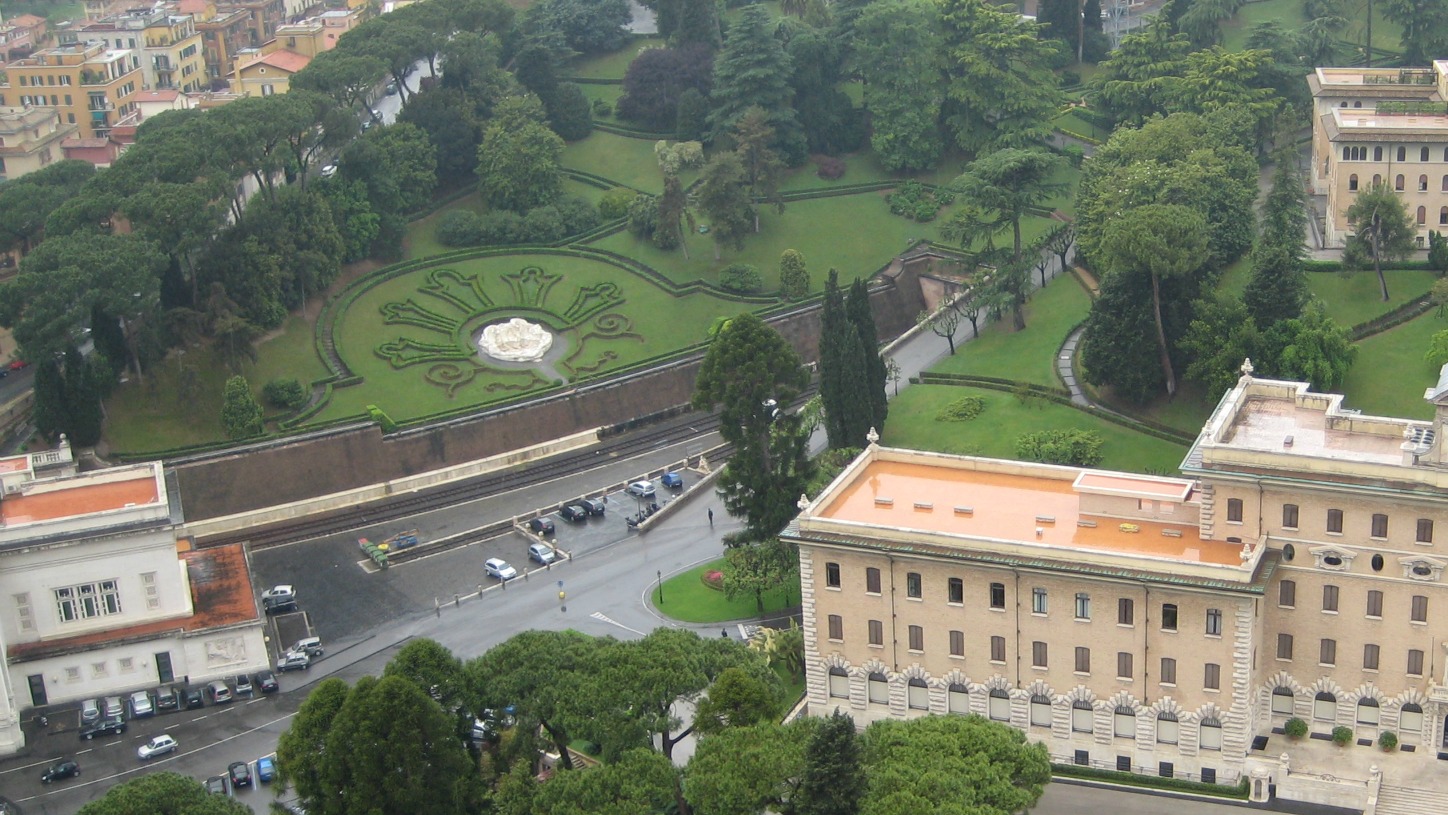
<svg viewBox="0 0 1448 815">
<path fill-rule="evenodd" d="M 1358 342 L 1358 356 L 1342 382 L 1344 405 L 1371 415 L 1432 418 L 1423 389 L 1438 382 L 1438 368 L 1423 359 L 1428 343 L 1448 320 L 1429 311 Z"/>
</svg>

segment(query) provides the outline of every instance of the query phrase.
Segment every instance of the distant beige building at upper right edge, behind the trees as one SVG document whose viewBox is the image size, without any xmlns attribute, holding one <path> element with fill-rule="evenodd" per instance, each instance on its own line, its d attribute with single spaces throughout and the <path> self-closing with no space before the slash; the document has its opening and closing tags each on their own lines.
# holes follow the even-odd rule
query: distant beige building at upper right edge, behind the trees
<svg viewBox="0 0 1448 815">
<path fill-rule="evenodd" d="M 1342 246 L 1357 193 L 1387 184 L 1418 240 L 1448 232 L 1448 61 L 1432 68 L 1318 68 L 1312 88 L 1312 188 L 1326 197 L 1323 245 Z"/>
</svg>

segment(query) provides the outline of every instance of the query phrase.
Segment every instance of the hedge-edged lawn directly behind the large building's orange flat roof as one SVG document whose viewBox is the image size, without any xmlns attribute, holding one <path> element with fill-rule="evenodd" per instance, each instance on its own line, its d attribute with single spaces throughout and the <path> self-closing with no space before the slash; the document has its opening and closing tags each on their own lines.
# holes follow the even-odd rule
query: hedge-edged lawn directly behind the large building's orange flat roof
<svg viewBox="0 0 1448 815">
<path fill-rule="evenodd" d="M 950 402 L 977 395 L 986 408 L 972 421 L 940 421 L 935 415 Z M 891 401 L 891 418 L 882 444 L 938 453 L 1015 459 L 1015 442 L 1038 430 L 1095 430 L 1100 433 L 1105 469 L 1176 473 L 1186 446 L 1163 442 L 1085 411 L 1044 400 L 1022 405 L 1014 395 L 983 388 L 911 385 Z"/>
</svg>

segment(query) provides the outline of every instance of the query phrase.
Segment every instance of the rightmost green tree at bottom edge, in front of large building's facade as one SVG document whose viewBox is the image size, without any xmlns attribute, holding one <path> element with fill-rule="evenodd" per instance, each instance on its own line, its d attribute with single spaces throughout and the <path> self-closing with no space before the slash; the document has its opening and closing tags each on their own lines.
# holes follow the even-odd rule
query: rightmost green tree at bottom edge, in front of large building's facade
<svg viewBox="0 0 1448 815">
<path fill-rule="evenodd" d="M 1044 744 L 980 717 L 876 721 L 863 747 L 870 770 L 860 812 L 870 815 L 1012 815 L 1034 806 L 1051 780 Z"/>
</svg>

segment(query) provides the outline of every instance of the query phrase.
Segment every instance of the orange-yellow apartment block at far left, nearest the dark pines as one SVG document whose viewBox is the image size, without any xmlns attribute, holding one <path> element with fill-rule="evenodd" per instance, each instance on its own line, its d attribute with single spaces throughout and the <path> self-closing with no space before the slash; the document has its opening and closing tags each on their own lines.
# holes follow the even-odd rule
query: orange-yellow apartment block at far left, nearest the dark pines
<svg viewBox="0 0 1448 815">
<path fill-rule="evenodd" d="M 84 139 L 104 138 L 139 119 L 140 58 L 101 42 L 59 45 L 12 62 L 0 83 L 0 106 L 54 107 Z"/>
</svg>

